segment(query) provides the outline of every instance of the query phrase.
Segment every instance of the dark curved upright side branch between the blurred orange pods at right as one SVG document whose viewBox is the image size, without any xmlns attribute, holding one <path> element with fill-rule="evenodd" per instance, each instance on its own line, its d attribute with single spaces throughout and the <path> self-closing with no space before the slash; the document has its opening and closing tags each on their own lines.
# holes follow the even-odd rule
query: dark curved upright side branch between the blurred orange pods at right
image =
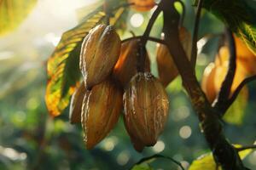
<svg viewBox="0 0 256 170">
<path fill-rule="evenodd" d="M 224 114 L 223 110 L 225 108 L 225 103 L 230 97 L 230 89 L 236 73 L 236 43 L 232 31 L 230 31 L 228 28 L 226 30 L 226 37 L 228 39 L 230 48 L 229 69 L 226 77 L 224 78 L 224 82 L 222 82 L 217 102 L 214 105 L 214 108 L 216 108 L 222 114 Z"/>
</svg>

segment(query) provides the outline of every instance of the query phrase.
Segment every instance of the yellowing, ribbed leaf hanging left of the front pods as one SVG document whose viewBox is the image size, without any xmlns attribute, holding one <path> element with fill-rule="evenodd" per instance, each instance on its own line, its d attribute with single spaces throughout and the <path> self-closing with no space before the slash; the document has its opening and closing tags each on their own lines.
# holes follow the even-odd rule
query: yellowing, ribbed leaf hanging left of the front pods
<svg viewBox="0 0 256 170">
<path fill-rule="evenodd" d="M 61 114 L 78 86 L 79 54 L 84 37 L 105 18 L 102 7 L 88 14 L 79 26 L 65 32 L 47 63 L 49 76 L 45 102 L 52 116 Z"/>
</svg>

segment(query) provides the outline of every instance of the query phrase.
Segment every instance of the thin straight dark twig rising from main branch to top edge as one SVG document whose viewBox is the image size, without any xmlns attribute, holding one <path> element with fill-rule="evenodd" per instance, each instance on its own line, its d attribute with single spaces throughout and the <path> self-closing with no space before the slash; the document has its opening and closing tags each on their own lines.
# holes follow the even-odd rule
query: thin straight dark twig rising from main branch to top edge
<svg viewBox="0 0 256 170">
<path fill-rule="evenodd" d="M 192 50 L 191 50 L 191 65 L 195 71 L 195 64 L 197 58 L 197 40 L 198 40 L 198 30 L 200 25 L 200 17 L 201 17 L 201 8 L 202 8 L 203 0 L 199 0 L 197 4 L 197 11 L 195 15 L 195 27 L 193 31 L 193 39 L 192 39 Z"/>
</svg>

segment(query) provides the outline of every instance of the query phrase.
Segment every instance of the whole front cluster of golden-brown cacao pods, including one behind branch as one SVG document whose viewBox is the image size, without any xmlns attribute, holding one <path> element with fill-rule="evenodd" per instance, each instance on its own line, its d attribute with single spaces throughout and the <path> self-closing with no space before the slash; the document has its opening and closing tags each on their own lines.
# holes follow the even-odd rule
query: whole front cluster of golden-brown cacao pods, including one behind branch
<svg viewBox="0 0 256 170">
<path fill-rule="evenodd" d="M 180 32 L 184 48 L 189 48 L 189 32 L 185 28 Z M 169 112 L 164 87 L 178 74 L 168 49 L 158 46 L 160 80 L 150 73 L 150 59 L 140 39 L 121 42 L 113 27 L 105 25 L 91 29 L 84 38 L 79 63 L 84 81 L 73 94 L 70 122 L 82 123 L 87 149 L 108 135 L 122 111 L 136 150 L 157 142 Z"/>
</svg>

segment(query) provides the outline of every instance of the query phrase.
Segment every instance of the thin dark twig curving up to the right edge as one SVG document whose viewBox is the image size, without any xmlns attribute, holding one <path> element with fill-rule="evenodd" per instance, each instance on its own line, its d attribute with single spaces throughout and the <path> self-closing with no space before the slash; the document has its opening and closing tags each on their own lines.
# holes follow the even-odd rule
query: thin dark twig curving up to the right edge
<svg viewBox="0 0 256 170">
<path fill-rule="evenodd" d="M 236 100 L 238 94 L 241 92 L 241 89 L 247 85 L 247 83 L 249 82 L 253 82 L 254 80 L 256 80 L 256 75 L 252 76 L 252 77 L 247 77 L 246 79 L 244 79 L 239 86 L 236 88 L 234 94 L 232 95 L 232 97 L 225 103 L 225 107 L 224 107 L 224 111 L 227 111 L 230 107 L 230 105 L 232 105 L 234 103 L 234 101 Z"/>
</svg>

